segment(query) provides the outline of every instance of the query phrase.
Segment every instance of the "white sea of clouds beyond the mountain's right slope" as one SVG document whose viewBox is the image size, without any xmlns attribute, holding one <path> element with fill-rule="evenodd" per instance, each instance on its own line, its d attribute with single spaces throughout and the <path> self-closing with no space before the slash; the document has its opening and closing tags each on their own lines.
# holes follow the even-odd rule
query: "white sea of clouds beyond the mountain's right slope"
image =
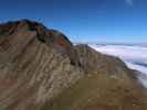
<svg viewBox="0 0 147 110">
<path fill-rule="evenodd" d="M 139 45 L 96 45 L 90 46 L 104 54 L 118 56 L 129 68 L 141 72 L 138 79 L 147 88 L 147 47 Z"/>
</svg>

